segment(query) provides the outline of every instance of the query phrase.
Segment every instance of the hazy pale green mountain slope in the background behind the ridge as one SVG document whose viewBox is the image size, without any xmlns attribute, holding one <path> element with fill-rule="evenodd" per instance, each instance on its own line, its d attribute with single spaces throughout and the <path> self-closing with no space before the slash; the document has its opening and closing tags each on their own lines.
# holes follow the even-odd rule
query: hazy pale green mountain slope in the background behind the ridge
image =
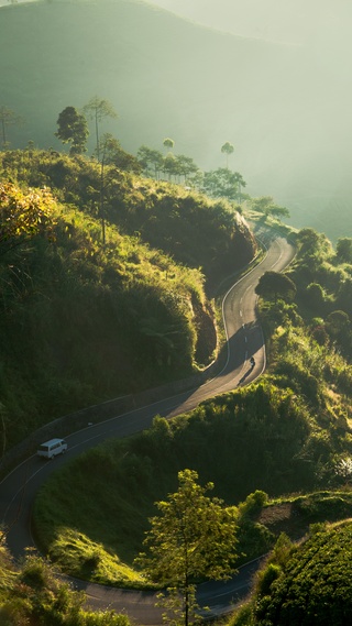
<svg viewBox="0 0 352 626">
<path fill-rule="evenodd" d="M 58 145 L 59 111 L 97 94 L 118 110 L 105 130 L 125 150 L 172 136 L 208 169 L 223 163 L 229 140 L 250 194 L 274 195 L 295 226 L 329 234 L 330 212 L 322 224 L 320 215 L 337 187 L 350 195 L 351 122 L 341 58 L 327 64 L 319 53 L 220 33 L 138 0 L 2 7 L 1 102 L 26 120 L 9 139 Z M 346 204 L 337 235 L 349 228 Z"/>
</svg>

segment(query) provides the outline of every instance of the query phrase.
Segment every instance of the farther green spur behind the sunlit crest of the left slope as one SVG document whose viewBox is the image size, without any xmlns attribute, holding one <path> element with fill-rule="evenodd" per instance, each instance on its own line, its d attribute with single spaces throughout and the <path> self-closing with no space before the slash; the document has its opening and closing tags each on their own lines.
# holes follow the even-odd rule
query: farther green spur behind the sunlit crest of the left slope
<svg viewBox="0 0 352 626">
<path fill-rule="evenodd" d="M 122 160 L 129 171 L 139 169 L 136 161 L 130 163 L 130 155 L 123 151 L 119 154 L 117 163 Z M 52 187 L 62 201 L 98 216 L 98 164 L 57 153 L 30 155 L 18 151 L 0 155 L 0 166 L 1 157 L 7 175 L 14 173 L 30 186 Z M 226 201 L 210 201 L 180 187 L 135 178 L 119 169 L 114 157 L 111 161 L 113 164 L 105 168 L 105 218 L 124 233 L 138 233 L 152 248 L 162 249 L 185 265 L 201 267 L 211 278 L 222 276 L 229 267 L 233 272 L 253 257 L 254 238 Z"/>
</svg>

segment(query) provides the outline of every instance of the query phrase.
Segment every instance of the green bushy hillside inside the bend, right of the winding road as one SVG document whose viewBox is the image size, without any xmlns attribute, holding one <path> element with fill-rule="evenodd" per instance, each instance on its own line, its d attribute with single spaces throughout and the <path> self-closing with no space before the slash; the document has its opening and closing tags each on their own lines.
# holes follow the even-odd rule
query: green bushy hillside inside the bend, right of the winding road
<svg viewBox="0 0 352 626">
<path fill-rule="evenodd" d="M 240 560 L 265 553 L 282 531 L 297 540 L 312 523 L 351 517 L 352 256 L 345 248 L 336 255 L 324 235 L 308 229 L 295 239 L 296 301 L 277 294 L 260 300 L 268 348 L 260 381 L 88 451 L 41 491 L 36 539 L 64 570 L 140 586 L 125 565 L 140 549 L 153 503 L 175 488 L 185 468 L 238 506 Z M 111 490 L 107 476 L 114 477 Z"/>
</svg>

